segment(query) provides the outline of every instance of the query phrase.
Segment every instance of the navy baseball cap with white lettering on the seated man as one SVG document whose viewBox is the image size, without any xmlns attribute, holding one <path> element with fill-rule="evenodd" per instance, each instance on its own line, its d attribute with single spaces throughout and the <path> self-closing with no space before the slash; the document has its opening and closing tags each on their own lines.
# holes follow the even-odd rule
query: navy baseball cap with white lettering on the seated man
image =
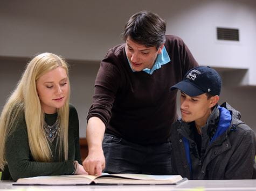
<svg viewBox="0 0 256 191">
<path fill-rule="evenodd" d="M 213 68 L 196 67 L 190 69 L 181 82 L 170 88 L 170 90 L 175 89 L 179 89 L 191 97 L 199 96 L 203 93 L 219 96 L 222 89 L 222 78 Z"/>
</svg>

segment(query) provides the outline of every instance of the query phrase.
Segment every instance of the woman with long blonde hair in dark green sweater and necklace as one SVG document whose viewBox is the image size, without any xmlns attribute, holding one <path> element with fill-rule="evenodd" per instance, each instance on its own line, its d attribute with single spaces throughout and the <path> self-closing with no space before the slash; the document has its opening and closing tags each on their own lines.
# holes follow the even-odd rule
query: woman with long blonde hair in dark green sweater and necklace
<svg viewBox="0 0 256 191">
<path fill-rule="evenodd" d="M 43 53 L 27 64 L 0 117 L 2 180 L 86 173 L 78 114 L 69 97 L 63 58 Z"/>
</svg>

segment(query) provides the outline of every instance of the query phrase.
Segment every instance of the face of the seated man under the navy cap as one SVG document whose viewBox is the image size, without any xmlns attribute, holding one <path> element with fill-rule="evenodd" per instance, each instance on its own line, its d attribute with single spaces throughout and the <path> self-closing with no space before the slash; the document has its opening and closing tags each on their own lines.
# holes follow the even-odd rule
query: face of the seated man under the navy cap
<svg viewBox="0 0 256 191">
<path fill-rule="evenodd" d="M 181 92 L 181 114 L 182 121 L 207 121 L 211 114 L 211 107 L 217 104 L 215 97 L 207 99 L 206 93 L 200 96 L 190 97 Z"/>
</svg>

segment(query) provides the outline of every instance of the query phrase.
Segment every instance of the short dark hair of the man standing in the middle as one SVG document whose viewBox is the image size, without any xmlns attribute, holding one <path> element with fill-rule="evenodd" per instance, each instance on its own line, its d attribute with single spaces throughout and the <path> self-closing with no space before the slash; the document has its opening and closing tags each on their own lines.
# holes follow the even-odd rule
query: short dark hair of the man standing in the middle
<svg viewBox="0 0 256 191">
<path fill-rule="evenodd" d="M 124 26 L 122 38 L 130 37 L 136 43 L 157 49 L 165 42 L 166 24 L 157 14 L 141 11 L 130 17 Z"/>
</svg>

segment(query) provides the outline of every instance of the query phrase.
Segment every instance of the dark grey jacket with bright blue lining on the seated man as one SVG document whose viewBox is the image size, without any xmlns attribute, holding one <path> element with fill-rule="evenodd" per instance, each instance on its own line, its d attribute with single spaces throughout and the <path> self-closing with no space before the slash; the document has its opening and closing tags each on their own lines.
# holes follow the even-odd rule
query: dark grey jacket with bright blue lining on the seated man
<svg viewBox="0 0 256 191">
<path fill-rule="evenodd" d="M 194 137 L 193 122 L 178 120 L 172 124 L 171 155 L 175 174 L 189 179 L 253 178 L 255 135 L 229 104 L 216 106 L 202 127 L 200 152 Z"/>
</svg>

